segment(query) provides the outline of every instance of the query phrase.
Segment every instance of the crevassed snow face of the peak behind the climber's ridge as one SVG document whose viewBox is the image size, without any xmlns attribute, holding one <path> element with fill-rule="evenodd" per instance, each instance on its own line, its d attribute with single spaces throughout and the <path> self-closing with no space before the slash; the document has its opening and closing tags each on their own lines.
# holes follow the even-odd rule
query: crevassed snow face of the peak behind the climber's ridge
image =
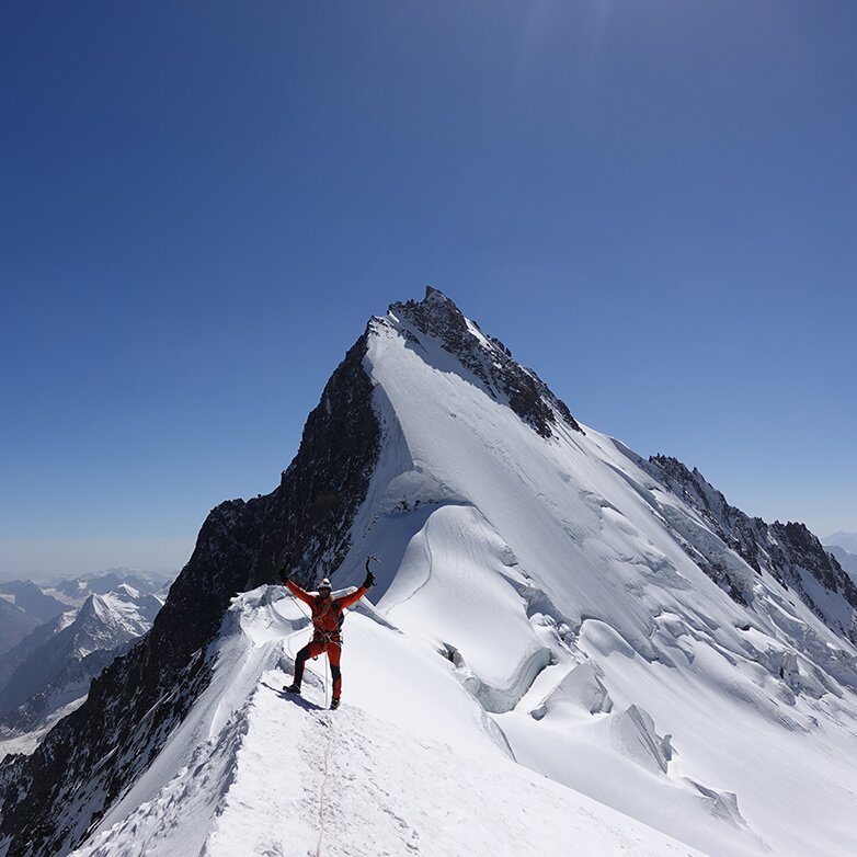
<svg viewBox="0 0 857 857">
<path fill-rule="evenodd" d="M 538 436 L 396 309 L 366 358 L 386 436 L 338 579 L 380 557 L 379 610 L 454 653 L 533 769 L 710 854 L 855 853 L 854 647 L 621 444 Z"/>
</svg>

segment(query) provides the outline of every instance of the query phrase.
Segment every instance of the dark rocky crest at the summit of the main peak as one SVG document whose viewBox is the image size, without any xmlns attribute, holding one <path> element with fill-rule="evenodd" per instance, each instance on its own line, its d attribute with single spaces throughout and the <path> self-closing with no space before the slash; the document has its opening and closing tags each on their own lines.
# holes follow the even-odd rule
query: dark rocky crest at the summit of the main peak
<svg viewBox="0 0 857 857">
<path fill-rule="evenodd" d="M 583 430 L 565 402 L 558 399 L 532 369 L 512 358 L 512 352 L 498 339 L 485 336 L 478 324 L 470 329 L 461 310 L 443 293 L 428 286 L 422 301 L 392 304 L 390 313 L 416 331 L 434 336 L 471 372 L 492 398 L 509 407 L 542 437 L 550 437 L 557 419 L 576 432 Z M 412 335 L 415 331 L 412 331 Z M 419 334 L 414 335 L 419 345 Z"/>
</svg>

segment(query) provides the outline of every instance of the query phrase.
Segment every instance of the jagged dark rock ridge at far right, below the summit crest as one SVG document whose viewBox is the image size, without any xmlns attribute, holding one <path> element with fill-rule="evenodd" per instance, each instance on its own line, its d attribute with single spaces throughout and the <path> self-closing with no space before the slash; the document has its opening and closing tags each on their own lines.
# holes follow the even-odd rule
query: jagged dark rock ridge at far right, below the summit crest
<svg viewBox="0 0 857 857">
<path fill-rule="evenodd" d="M 649 465 L 652 476 L 695 506 L 756 573 L 763 569 L 769 572 L 784 586 L 795 590 L 830 628 L 857 642 L 857 586 L 803 524 L 766 524 L 762 518 L 750 517 L 731 506 L 696 468 L 690 471 L 676 458 L 652 456 Z M 745 591 L 733 585 L 728 569 L 699 564 L 735 601 L 746 603 Z M 844 609 L 831 609 L 831 599 Z"/>
</svg>

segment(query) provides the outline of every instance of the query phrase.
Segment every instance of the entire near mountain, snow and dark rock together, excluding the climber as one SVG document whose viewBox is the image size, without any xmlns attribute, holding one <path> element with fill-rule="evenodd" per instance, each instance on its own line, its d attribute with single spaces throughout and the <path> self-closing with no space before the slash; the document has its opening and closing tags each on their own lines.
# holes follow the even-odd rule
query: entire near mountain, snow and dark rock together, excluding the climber
<svg viewBox="0 0 857 857">
<path fill-rule="evenodd" d="M 369 553 L 344 707 L 283 699 L 307 622 L 260 584 L 356 585 Z M 0 768 L 0 855 L 850 855 L 856 606 L 804 527 L 581 425 L 430 289 L 370 321 L 279 488 L 212 513 L 146 641 Z"/>
</svg>

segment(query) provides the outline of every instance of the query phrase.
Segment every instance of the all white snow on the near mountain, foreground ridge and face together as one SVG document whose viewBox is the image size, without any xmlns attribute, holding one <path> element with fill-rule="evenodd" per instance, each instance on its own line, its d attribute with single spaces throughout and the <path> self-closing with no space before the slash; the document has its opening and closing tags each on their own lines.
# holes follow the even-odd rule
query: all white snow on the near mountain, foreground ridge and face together
<svg viewBox="0 0 857 857">
<path fill-rule="evenodd" d="M 540 437 L 407 328 L 375 320 L 365 361 L 384 443 L 334 581 L 380 563 L 343 708 L 323 659 L 283 694 L 297 603 L 240 595 L 212 686 L 75 854 L 857 853 L 854 647 L 622 444 Z"/>
</svg>

